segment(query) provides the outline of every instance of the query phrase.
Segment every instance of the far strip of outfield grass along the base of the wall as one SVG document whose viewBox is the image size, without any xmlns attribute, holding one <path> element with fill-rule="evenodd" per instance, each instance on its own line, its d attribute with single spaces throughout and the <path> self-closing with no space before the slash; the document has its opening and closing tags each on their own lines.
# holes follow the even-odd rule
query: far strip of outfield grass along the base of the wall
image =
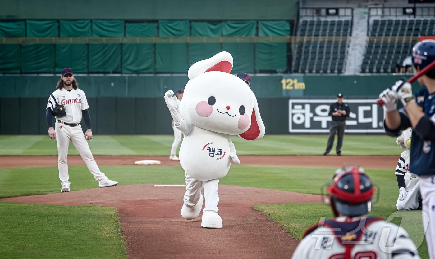
<svg viewBox="0 0 435 259">
<path fill-rule="evenodd" d="M 94 155 L 151 156 L 169 155 L 173 139 L 172 135 L 95 135 L 88 143 Z M 325 152 L 328 135 L 266 135 L 258 141 L 232 136 L 231 140 L 242 155 L 319 155 Z M 342 151 L 343 155 L 401 153 L 395 138 L 386 135 L 345 135 Z M 78 154 L 72 143 L 68 154 Z M 45 135 L 0 135 L 0 155 L 57 155 L 57 145 Z"/>
</svg>

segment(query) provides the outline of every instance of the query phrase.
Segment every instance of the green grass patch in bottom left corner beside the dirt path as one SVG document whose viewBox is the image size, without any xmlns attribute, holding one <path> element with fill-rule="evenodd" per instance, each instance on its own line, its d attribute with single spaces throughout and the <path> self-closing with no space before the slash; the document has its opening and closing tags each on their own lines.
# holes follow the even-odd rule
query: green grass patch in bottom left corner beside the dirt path
<svg viewBox="0 0 435 259">
<path fill-rule="evenodd" d="M 1 258 L 127 258 L 117 210 L 0 202 Z"/>
</svg>

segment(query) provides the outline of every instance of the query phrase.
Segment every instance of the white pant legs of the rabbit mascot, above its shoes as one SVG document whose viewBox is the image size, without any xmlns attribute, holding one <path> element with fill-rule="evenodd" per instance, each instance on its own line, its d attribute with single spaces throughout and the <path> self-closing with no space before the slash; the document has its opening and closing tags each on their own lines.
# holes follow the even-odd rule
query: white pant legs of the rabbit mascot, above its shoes
<svg viewBox="0 0 435 259">
<path fill-rule="evenodd" d="M 219 179 L 198 181 L 186 172 L 186 178 L 184 180 L 186 181 L 186 193 L 184 194 L 183 202 L 187 207 L 194 207 L 198 203 L 201 197 L 201 189 L 204 187 L 205 207 L 203 211 L 210 210 L 218 212 Z"/>
</svg>

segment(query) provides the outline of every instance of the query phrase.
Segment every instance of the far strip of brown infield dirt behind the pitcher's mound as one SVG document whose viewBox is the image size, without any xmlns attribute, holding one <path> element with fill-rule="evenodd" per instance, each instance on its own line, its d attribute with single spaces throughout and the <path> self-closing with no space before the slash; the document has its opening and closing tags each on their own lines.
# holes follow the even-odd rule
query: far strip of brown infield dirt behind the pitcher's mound
<svg viewBox="0 0 435 259">
<path fill-rule="evenodd" d="M 158 160 L 161 165 L 177 166 L 167 156 L 94 156 L 98 165 L 134 165 L 138 160 Z M 358 163 L 367 168 L 395 168 L 398 156 L 239 156 L 241 164 L 269 166 L 341 167 L 343 163 Z M 69 165 L 85 165 L 80 156 L 68 156 Z M 57 166 L 57 156 L 0 156 L 0 167 Z M 156 165 L 153 165 L 156 166 Z"/>
</svg>

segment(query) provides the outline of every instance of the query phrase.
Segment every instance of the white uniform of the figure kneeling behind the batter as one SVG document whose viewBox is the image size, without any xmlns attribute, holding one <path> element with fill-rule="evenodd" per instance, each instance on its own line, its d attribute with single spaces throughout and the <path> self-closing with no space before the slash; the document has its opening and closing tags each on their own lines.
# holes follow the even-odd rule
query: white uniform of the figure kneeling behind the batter
<svg viewBox="0 0 435 259">
<path fill-rule="evenodd" d="M 409 171 L 409 155 L 411 151 L 405 150 L 400 154 L 397 163 L 395 175 L 403 175 L 405 177 L 405 200 L 397 199 L 398 210 L 417 210 L 420 207 L 422 197 L 420 195 L 420 185 L 418 183 L 418 176 Z"/>
</svg>

